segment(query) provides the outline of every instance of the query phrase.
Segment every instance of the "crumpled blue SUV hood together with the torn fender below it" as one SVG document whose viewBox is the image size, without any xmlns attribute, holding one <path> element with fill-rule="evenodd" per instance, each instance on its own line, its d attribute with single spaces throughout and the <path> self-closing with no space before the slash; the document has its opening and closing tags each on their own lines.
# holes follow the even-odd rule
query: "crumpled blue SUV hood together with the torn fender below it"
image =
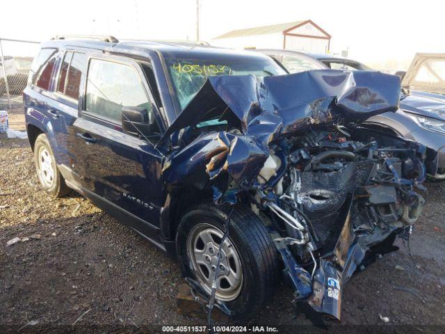
<svg viewBox="0 0 445 334">
<path fill-rule="evenodd" d="M 241 132 L 204 132 L 170 157 L 164 167 L 165 181 L 203 188 L 211 180 L 214 200 L 233 203 L 234 193 L 225 192 L 227 182 L 219 175 L 230 175 L 242 189 L 252 189 L 272 142 L 305 134 L 309 127 L 330 120 L 361 122 L 396 111 L 399 95 L 398 77 L 380 72 L 316 70 L 264 79 L 211 77 L 164 137 L 215 118 L 227 120 L 229 129 Z"/>
</svg>

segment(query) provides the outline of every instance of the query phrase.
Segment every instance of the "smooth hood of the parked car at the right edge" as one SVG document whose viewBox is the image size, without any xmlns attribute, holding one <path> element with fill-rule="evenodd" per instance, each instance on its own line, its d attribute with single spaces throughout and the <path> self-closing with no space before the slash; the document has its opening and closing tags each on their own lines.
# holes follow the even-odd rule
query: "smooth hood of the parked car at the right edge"
<svg viewBox="0 0 445 334">
<path fill-rule="evenodd" d="M 401 100 L 401 109 L 419 116 L 445 120 L 445 103 L 426 96 L 407 95 Z"/>
</svg>

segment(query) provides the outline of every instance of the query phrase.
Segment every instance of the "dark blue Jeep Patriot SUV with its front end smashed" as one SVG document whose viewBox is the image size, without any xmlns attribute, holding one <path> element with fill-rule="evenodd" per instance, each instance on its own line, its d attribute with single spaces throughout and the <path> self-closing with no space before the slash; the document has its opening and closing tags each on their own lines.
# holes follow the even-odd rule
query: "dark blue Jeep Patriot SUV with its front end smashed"
<svg viewBox="0 0 445 334">
<path fill-rule="evenodd" d="M 425 202 L 425 148 L 360 125 L 399 93 L 395 76 L 286 75 L 247 51 L 58 39 L 24 109 L 47 193 L 76 189 L 177 257 L 209 305 L 252 316 L 282 273 L 340 319 L 346 281 Z"/>
</svg>

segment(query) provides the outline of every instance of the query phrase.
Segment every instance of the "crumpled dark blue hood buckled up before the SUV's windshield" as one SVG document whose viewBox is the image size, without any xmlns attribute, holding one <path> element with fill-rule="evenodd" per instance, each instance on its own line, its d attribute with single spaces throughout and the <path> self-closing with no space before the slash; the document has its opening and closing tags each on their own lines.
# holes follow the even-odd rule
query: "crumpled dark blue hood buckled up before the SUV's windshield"
<svg viewBox="0 0 445 334">
<path fill-rule="evenodd" d="M 400 89 L 398 77 L 371 71 L 209 77 L 161 141 L 185 127 L 221 118 L 229 124 L 241 121 L 244 134 L 266 144 L 280 134 L 305 130 L 332 118 L 362 122 L 396 111 Z"/>
</svg>

